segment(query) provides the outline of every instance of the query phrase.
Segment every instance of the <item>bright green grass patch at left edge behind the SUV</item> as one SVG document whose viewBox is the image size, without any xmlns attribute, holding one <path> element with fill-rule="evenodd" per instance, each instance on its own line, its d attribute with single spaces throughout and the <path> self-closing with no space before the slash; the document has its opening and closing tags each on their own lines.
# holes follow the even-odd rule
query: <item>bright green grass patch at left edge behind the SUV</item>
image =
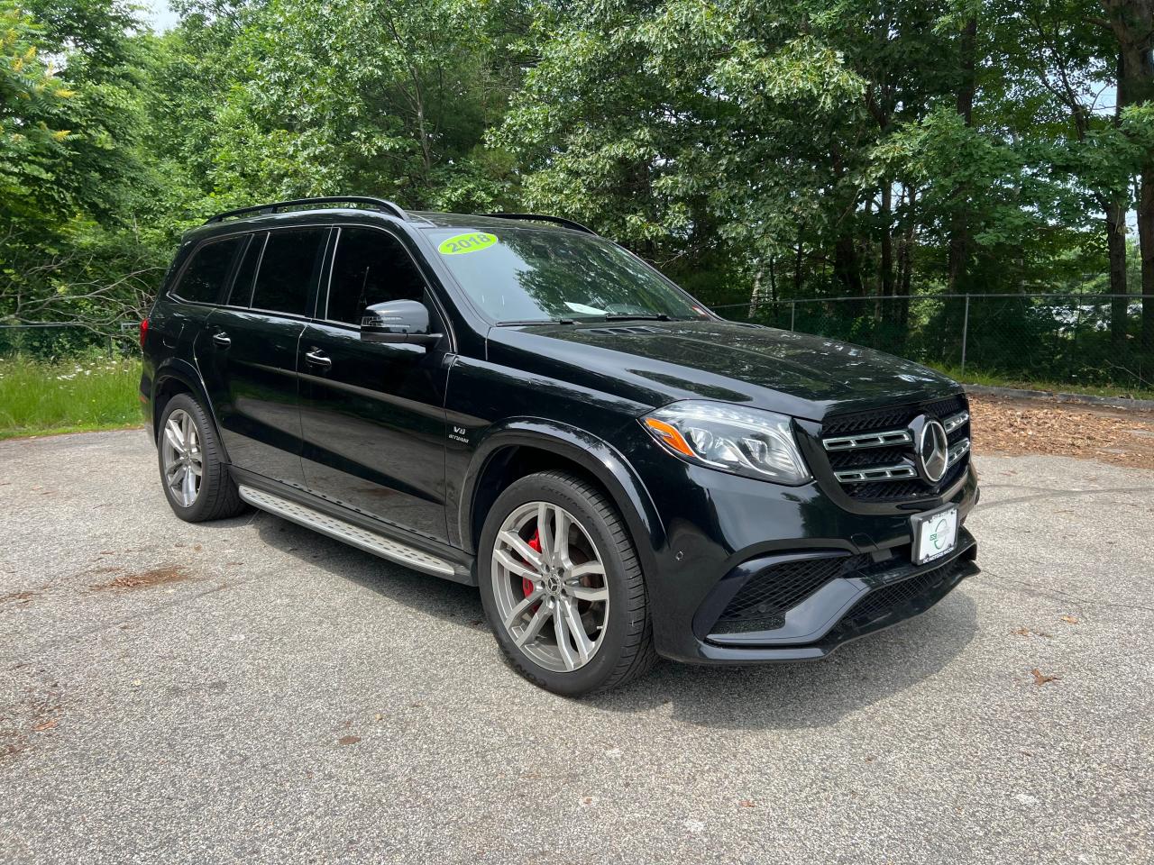
<svg viewBox="0 0 1154 865">
<path fill-rule="evenodd" d="M 138 360 L 0 360 L 0 438 L 140 426 Z"/>
</svg>

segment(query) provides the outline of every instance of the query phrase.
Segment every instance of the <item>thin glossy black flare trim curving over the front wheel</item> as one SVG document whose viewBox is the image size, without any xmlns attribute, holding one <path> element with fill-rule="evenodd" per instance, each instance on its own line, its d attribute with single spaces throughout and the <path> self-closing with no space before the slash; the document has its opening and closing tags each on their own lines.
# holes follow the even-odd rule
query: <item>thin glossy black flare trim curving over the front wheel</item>
<svg viewBox="0 0 1154 865">
<path fill-rule="evenodd" d="M 613 498 L 617 511 L 624 517 L 634 537 L 649 537 L 649 543 L 638 543 L 638 552 L 642 555 L 645 571 L 652 573 L 651 569 L 655 567 L 652 550 L 665 544 L 665 526 L 649 490 L 632 466 L 608 442 L 585 430 L 544 418 L 510 419 L 497 427 L 492 427 L 473 452 L 473 459 L 462 482 L 458 507 L 458 531 L 466 550 L 477 549 L 477 539 L 472 532 L 477 483 L 493 458 L 511 446 L 530 446 L 556 453 L 559 457 L 572 460 L 600 481 Z"/>
</svg>

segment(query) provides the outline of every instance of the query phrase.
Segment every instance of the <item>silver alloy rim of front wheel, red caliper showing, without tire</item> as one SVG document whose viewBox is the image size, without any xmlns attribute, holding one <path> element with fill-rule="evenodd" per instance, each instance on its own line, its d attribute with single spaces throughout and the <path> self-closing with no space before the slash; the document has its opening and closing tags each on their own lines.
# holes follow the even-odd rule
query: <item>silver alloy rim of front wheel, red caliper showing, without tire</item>
<svg viewBox="0 0 1154 865">
<path fill-rule="evenodd" d="M 517 507 L 497 532 L 492 574 L 501 622 L 534 662 L 572 672 L 597 654 L 609 615 L 605 564 L 569 511 L 549 502 Z"/>
</svg>

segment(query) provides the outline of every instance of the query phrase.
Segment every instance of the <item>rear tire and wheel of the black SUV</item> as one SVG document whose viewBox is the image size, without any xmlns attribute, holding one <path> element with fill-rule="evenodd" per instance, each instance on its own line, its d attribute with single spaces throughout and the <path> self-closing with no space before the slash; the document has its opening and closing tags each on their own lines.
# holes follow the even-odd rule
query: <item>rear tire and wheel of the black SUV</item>
<svg viewBox="0 0 1154 865">
<path fill-rule="evenodd" d="M 182 432 L 193 430 L 198 446 L 194 446 L 193 456 L 186 461 L 180 461 L 180 451 L 167 436 L 170 422 L 179 427 Z M 216 427 L 192 396 L 180 393 L 168 400 L 160 415 L 159 430 L 156 450 L 160 468 L 160 487 L 173 513 L 186 522 L 204 522 L 235 517 L 246 510 L 237 483 L 220 459 L 220 443 Z M 189 465 L 196 467 L 197 457 L 200 476 L 195 477 L 195 471 L 193 472 L 194 494 L 189 497 L 185 487 L 187 469 Z M 183 474 L 180 473 L 181 467 L 185 468 Z M 175 476 L 179 476 L 179 481 L 174 489 L 170 479 Z"/>
</svg>

